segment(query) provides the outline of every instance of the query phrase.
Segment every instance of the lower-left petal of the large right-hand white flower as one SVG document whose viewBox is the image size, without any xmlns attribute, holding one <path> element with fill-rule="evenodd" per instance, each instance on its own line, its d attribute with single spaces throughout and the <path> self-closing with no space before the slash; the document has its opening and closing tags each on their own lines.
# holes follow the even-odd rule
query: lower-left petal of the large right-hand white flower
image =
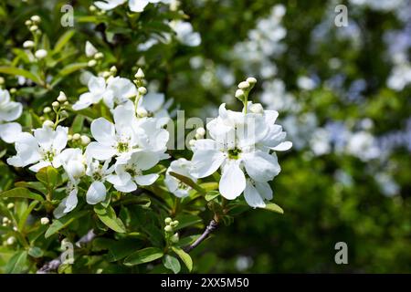
<svg viewBox="0 0 411 292">
<path fill-rule="evenodd" d="M 199 150 L 193 155 L 191 175 L 203 178 L 218 170 L 226 159 L 224 153 L 215 150 Z"/>
</svg>

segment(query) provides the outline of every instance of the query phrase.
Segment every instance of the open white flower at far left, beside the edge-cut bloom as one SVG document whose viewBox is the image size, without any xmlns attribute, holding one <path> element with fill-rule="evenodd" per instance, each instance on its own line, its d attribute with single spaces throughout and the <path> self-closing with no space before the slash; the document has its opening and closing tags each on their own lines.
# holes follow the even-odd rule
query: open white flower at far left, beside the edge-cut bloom
<svg viewBox="0 0 411 292">
<path fill-rule="evenodd" d="M 29 169 L 38 172 L 43 167 L 53 165 L 58 168 L 61 163 L 58 154 L 66 148 L 68 128 L 58 126 L 56 130 L 44 126 L 34 130 L 34 136 L 27 132 L 16 137 L 16 155 L 7 159 L 7 163 L 16 167 L 34 164 Z"/>
</svg>

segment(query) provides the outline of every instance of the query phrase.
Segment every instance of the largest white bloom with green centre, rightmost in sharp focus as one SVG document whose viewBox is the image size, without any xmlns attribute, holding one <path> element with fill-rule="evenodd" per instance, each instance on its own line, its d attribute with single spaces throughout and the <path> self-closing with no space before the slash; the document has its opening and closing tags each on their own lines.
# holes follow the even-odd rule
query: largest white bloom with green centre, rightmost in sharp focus
<svg viewBox="0 0 411 292">
<path fill-rule="evenodd" d="M 270 152 L 286 151 L 292 145 L 284 141 L 286 133 L 275 124 L 278 115 L 275 110 L 245 114 L 244 110 L 226 110 L 222 104 L 219 116 L 207 124 L 212 139 L 195 141 L 191 174 L 203 178 L 221 167 L 219 191 L 224 197 L 236 199 L 247 189 L 251 206 L 265 206 L 263 200 L 270 197 L 266 183 L 280 172 L 277 156 Z"/>
</svg>

